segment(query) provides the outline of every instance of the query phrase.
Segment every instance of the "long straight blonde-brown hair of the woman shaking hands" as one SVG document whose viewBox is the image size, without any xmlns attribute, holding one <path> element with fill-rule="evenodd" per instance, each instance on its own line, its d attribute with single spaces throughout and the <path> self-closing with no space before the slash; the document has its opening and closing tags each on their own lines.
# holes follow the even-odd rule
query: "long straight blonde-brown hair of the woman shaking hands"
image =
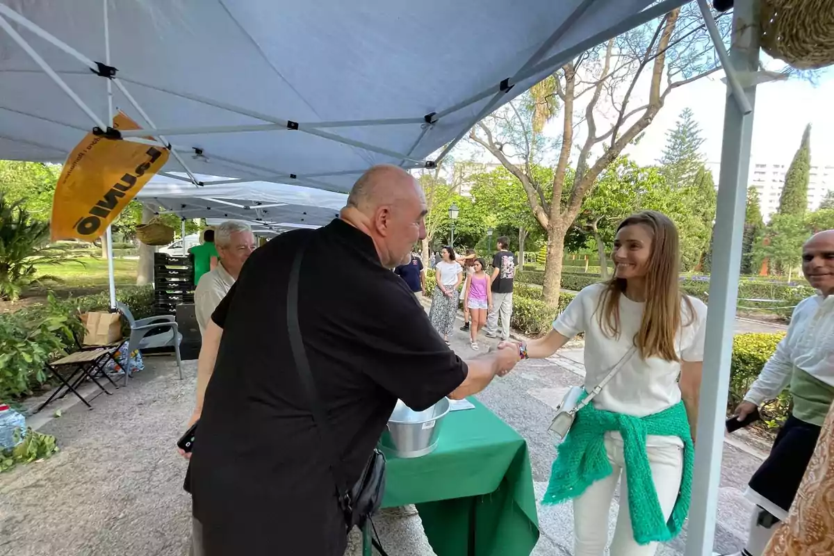
<svg viewBox="0 0 834 556">
<path fill-rule="evenodd" d="M 617 227 L 617 232 L 635 224 L 649 228 L 652 239 L 649 271 L 646 273 L 646 308 L 634 343 L 644 359 L 659 357 L 666 361 L 680 361 L 675 340 L 681 329 L 681 299 L 690 319 L 695 317 L 695 308 L 689 298 L 681 295 L 678 282 L 681 251 L 677 228 L 666 214 L 647 210 L 625 218 Z M 597 307 L 600 328 L 611 338 L 620 336 L 620 295 L 624 292 L 625 280 L 611 278 L 605 283 L 605 292 Z"/>
</svg>

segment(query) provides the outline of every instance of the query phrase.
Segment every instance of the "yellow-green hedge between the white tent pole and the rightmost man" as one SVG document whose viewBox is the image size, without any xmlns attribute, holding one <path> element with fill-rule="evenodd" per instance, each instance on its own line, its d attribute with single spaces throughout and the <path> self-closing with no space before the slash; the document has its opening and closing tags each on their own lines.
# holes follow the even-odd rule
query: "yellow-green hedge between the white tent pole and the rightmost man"
<svg viewBox="0 0 834 556">
<path fill-rule="evenodd" d="M 727 397 L 729 412 L 741 403 L 751 384 L 761 373 L 767 359 L 776 351 L 776 344 L 784 333 L 747 333 L 737 334 L 733 338 L 730 367 L 730 393 Z M 782 392 L 771 403 L 767 403 L 762 417 L 769 427 L 777 427 L 785 422 L 791 405 L 791 395 Z"/>
</svg>

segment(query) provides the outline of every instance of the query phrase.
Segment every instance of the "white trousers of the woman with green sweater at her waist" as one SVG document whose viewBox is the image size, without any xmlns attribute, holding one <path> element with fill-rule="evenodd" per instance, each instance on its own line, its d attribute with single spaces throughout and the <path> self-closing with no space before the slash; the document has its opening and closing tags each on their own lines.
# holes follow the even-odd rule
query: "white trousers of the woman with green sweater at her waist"
<svg viewBox="0 0 834 556">
<path fill-rule="evenodd" d="M 614 491 L 620 482 L 620 513 L 610 556 L 653 556 L 657 543 L 641 545 L 631 530 L 631 514 L 628 508 L 628 477 L 625 473 L 623 443 L 620 438 L 605 438 L 605 450 L 613 473 L 590 485 L 580 497 L 574 499 L 574 556 L 603 556 L 608 543 L 608 515 L 614 501 Z M 650 446 L 651 477 L 655 482 L 657 497 L 663 517 L 668 519 L 675 508 L 683 473 L 683 448 L 675 444 Z"/>
</svg>

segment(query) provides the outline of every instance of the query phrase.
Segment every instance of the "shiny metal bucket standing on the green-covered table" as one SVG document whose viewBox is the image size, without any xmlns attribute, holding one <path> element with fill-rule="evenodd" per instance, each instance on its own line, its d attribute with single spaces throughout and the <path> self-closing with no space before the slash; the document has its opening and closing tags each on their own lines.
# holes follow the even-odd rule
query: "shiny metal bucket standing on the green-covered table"
<svg viewBox="0 0 834 556">
<path fill-rule="evenodd" d="M 388 427 L 379 438 L 379 448 L 394 458 L 420 458 L 437 448 L 440 425 L 449 413 L 449 400 L 443 398 L 424 411 L 414 411 L 397 400 Z"/>
</svg>

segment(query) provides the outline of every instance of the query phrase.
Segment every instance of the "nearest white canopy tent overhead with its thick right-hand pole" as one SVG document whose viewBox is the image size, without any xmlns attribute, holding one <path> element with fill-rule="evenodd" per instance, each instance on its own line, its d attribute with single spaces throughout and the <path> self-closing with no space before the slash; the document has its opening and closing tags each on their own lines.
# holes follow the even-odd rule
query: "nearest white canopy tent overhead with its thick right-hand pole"
<svg viewBox="0 0 834 556">
<path fill-rule="evenodd" d="M 683 3 L 0 0 L 0 159 L 63 162 L 94 127 L 170 146 L 163 175 L 192 190 L 259 181 L 344 193 L 374 163 L 432 168 L 501 103 Z M 706 13 L 706 1 L 699 4 Z M 734 98 L 726 105 L 716 215 L 723 241 L 713 252 L 690 556 L 711 553 L 716 525 L 756 89 L 754 79 L 742 89 L 732 70 L 758 68 L 757 14 L 758 0 L 736 0 L 731 59 L 718 49 Z M 113 132 L 116 108 L 148 131 Z M 440 157 L 425 159 L 444 145 Z M 200 197 L 179 204 L 187 198 Z M 175 209 L 173 199 L 154 202 Z"/>
</svg>

